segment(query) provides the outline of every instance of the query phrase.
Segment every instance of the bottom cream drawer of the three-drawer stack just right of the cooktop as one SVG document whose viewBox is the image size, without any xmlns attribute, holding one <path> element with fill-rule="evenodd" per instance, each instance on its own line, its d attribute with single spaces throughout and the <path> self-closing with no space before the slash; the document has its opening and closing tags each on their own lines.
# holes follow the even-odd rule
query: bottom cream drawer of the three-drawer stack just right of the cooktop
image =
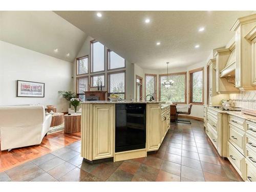
<svg viewBox="0 0 256 192">
<path fill-rule="evenodd" d="M 230 143 L 227 145 L 227 158 L 239 175 L 244 178 L 245 157 Z"/>
</svg>

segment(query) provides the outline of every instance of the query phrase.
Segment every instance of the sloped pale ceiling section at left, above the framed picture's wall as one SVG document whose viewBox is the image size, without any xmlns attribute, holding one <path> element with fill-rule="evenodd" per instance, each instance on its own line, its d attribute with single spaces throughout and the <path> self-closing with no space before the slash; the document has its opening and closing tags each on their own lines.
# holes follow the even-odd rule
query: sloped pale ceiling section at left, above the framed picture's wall
<svg viewBox="0 0 256 192">
<path fill-rule="evenodd" d="M 0 11 L 0 40 L 20 47 L 73 62 L 85 39 L 52 11 Z"/>
</svg>

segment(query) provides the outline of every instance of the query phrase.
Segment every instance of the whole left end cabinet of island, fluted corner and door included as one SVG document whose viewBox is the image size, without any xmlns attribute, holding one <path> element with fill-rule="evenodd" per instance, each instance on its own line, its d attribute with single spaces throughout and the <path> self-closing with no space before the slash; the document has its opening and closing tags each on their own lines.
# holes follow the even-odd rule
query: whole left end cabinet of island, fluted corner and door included
<svg viewBox="0 0 256 192">
<path fill-rule="evenodd" d="M 82 104 L 81 156 L 89 161 L 114 157 L 115 104 Z"/>
</svg>

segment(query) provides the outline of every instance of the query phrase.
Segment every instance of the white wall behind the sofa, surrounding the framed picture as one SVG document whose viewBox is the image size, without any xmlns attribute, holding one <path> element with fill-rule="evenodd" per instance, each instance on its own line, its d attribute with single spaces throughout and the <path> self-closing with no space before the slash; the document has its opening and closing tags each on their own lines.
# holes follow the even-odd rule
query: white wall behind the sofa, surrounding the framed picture
<svg viewBox="0 0 256 192">
<path fill-rule="evenodd" d="M 72 63 L 0 41 L 0 105 L 53 104 L 68 111 L 59 90 L 73 90 Z M 16 97 L 16 80 L 45 83 L 45 97 Z"/>
</svg>

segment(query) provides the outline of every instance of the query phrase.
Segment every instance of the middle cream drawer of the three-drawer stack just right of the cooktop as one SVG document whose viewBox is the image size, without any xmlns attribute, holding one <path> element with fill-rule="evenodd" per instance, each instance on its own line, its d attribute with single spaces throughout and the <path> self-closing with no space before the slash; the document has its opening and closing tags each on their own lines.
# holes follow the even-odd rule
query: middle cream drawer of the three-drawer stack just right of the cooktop
<svg viewBox="0 0 256 192">
<path fill-rule="evenodd" d="M 229 141 L 237 148 L 240 153 L 244 153 L 245 133 L 229 124 Z"/>
</svg>

